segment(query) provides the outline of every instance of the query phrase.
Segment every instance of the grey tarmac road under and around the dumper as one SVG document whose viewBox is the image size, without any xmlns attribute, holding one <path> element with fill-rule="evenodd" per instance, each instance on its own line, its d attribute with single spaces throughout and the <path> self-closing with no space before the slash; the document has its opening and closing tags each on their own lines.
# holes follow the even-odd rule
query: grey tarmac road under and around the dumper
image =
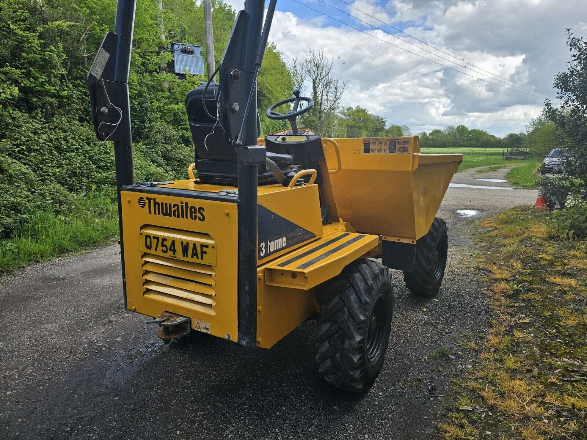
<svg viewBox="0 0 587 440">
<path fill-rule="evenodd" d="M 454 181 L 493 185 L 475 177 Z M 417 299 L 394 273 L 390 346 L 365 395 L 322 380 L 312 321 L 271 350 L 213 337 L 164 346 L 144 316 L 123 309 L 116 245 L 33 265 L 0 283 L 0 438 L 432 438 L 450 378 L 470 364 L 457 343 L 479 337 L 490 313 L 455 211 L 489 215 L 536 195 L 448 189 L 443 287 L 437 301 Z M 437 357 L 440 347 L 454 359 Z"/>
</svg>

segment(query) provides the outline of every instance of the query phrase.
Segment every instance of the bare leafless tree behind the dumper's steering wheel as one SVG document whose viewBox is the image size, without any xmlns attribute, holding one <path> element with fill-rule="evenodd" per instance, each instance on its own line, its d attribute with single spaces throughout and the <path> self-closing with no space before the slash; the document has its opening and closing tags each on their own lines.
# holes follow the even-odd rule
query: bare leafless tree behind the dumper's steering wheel
<svg viewBox="0 0 587 440">
<path fill-rule="evenodd" d="M 289 69 L 294 83 L 302 94 L 309 93 L 314 100 L 314 109 L 301 118 L 301 125 L 333 136 L 336 129 L 340 101 L 349 83 L 334 75 L 332 64 L 323 50 L 308 49 L 303 60 L 294 58 Z"/>
</svg>

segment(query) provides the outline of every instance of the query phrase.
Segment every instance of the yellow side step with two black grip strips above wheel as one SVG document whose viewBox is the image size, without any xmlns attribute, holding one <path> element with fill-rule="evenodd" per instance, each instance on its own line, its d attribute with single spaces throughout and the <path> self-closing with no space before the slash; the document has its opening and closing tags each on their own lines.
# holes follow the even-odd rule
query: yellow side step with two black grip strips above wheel
<svg viewBox="0 0 587 440">
<path fill-rule="evenodd" d="M 335 232 L 265 267 L 270 286 L 308 290 L 338 275 L 353 260 L 377 246 L 379 237 L 365 233 Z"/>
</svg>

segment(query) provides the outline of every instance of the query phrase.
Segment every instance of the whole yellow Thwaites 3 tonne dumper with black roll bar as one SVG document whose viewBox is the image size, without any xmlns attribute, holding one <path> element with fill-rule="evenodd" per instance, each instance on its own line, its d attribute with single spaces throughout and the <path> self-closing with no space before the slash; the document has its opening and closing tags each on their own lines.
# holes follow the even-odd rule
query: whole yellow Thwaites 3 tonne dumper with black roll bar
<svg viewBox="0 0 587 440">
<path fill-rule="evenodd" d="M 186 97 L 190 178 L 135 182 L 135 1 L 119 0 L 116 31 L 87 76 L 96 135 L 114 142 L 126 307 L 153 317 L 164 341 L 202 332 L 263 348 L 316 319 L 319 372 L 367 390 L 390 337 L 389 269 L 416 295 L 440 287 L 448 238 L 435 216 L 462 155 L 422 155 L 416 136 L 322 138 L 298 127 L 313 101 L 297 90 L 266 110 L 291 128 L 258 138 L 257 74 L 276 0 L 264 26 L 265 2 L 248 0 L 220 82 Z"/>
</svg>

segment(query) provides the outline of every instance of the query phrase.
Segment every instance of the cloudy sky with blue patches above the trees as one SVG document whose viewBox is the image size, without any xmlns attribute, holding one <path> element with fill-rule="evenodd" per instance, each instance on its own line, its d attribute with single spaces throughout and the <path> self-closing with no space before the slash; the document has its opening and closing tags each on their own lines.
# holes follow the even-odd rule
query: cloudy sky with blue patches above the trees
<svg viewBox="0 0 587 440">
<path fill-rule="evenodd" d="M 244 5 L 227 2 L 237 9 Z M 336 75 L 349 81 L 344 106 L 365 107 L 413 133 L 450 124 L 496 136 L 524 131 L 540 113 L 544 95 L 519 92 L 554 96 L 554 75 L 570 59 L 565 28 L 587 36 L 587 0 L 278 0 L 277 5 L 269 39 L 285 60 L 304 57 L 308 48 L 322 49 L 334 60 Z M 521 85 L 500 87 L 507 80 Z"/>
</svg>

